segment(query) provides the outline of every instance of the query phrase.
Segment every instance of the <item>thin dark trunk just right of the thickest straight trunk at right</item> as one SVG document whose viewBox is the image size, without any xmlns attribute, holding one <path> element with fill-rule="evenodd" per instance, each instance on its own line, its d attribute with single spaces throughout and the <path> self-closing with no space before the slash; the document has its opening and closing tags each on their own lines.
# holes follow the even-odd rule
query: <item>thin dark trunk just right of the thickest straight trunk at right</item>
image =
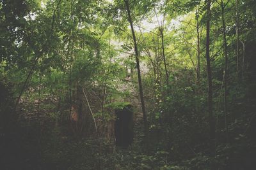
<svg viewBox="0 0 256 170">
<path fill-rule="evenodd" d="M 224 117 L 225 117 L 225 130 L 226 130 L 226 140 L 228 143 L 228 125 L 227 125 L 227 64 L 228 64 L 228 55 L 227 55 L 227 39 L 226 39 L 226 23 L 225 23 L 225 6 L 223 0 L 221 0 L 221 14 L 222 14 L 222 26 L 223 26 L 223 48 L 225 53 L 225 71 L 224 71 Z"/>
</svg>

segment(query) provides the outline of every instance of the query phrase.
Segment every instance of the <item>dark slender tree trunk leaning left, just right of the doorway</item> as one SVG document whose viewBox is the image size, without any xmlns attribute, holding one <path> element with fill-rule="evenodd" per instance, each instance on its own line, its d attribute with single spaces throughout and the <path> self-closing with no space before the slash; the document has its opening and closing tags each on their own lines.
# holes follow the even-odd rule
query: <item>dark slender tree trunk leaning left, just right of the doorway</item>
<svg viewBox="0 0 256 170">
<path fill-rule="evenodd" d="M 129 7 L 129 1 L 128 0 L 124 0 L 124 1 L 125 1 L 125 6 L 126 6 L 127 14 L 128 14 L 128 21 L 129 21 L 130 26 L 131 26 L 132 38 L 133 38 L 133 43 L 134 43 L 134 51 L 135 51 L 135 57 L 136 57 L 136 66 L 137 66 L 137 72 L 138 72 L 138 83 L 139 83 L 139 90 L 140 90 L 141 109 L 142 109 L 142 113 L 143 113 L 143 123 L 144 123 L 144 128 L 145 128 L 145 135 L 146 135 L 146 138 L 147 138 L 148 122 L 147 122 L 147 113 L 146 113 L 146 110 L 145 110 L 145 103 L 144 103 L 144 98 L 143 98 L 143 87 L 142 87 L 142 82 L 141 82 L 140 60 L 139 60 L 140 54 L 138 52 L 136 35 L 135 35 L 135 32 L 134 32 L 134 28 L 133 28 L 131 11 L 130 11 L 130 7 Z"/>
</svg>

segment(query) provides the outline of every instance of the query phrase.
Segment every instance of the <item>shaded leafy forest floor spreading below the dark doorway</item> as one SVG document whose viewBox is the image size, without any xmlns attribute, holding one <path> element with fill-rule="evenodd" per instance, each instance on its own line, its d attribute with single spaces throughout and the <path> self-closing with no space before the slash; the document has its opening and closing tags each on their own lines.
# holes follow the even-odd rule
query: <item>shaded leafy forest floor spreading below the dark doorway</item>
<svg viewBox="0 0 256 170">
<path fill-rule="evenodd" d="M 214 164 L 222 164 L 220 169 L 253 169 L 255 160 L 252 141 L 244 136 L 237 143 L 219 146 L 214 158 L 194 152 L 193 157 L 182 160 L 181 153 L 170 155 L 161 141 L 156 143 L 154 132 L 151 144 L 146 146 L 141 123 L 135 125 L 134 143 L 127 149 L 116 148 L 114 141 L 106 141 L 98 134 L 90 138 L 63 136 L 56 122 L 22 123 L 12 125 L 3 138 L 1 169 L 210 169 Z M 189 145 L 186 147 L 193 152 Z"/>
</svg>

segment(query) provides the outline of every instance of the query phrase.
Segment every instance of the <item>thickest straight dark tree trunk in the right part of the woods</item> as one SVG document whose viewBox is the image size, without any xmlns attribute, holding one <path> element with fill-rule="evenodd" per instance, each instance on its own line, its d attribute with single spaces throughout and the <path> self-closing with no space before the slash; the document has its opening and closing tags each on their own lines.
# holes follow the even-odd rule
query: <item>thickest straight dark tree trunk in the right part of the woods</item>
<svg viewBox="0 0 256 170">
<path fill-rule="evenodd" d="M 207 23 L 206 23 L 206 60 L 208 76 L 208 111 L 209 111 L 209 134 L 211 139 L 211 154 L 215 152 L 215 121 L 212 111 L 212 71 L 210 59 L 210 17 L 211 17 L 211 0 L 207 1 Z"/>
</svg>

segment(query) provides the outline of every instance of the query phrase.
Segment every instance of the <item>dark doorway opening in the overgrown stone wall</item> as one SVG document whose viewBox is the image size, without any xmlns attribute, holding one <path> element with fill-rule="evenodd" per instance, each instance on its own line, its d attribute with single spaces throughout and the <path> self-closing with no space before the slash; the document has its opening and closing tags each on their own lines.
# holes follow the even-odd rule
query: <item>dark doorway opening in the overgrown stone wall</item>
<svg viewBox="0 0 256 170">
<path fill-rule="evenodd" d="M 131 104 L 116 109 L 115 138 L 116 146 L 127 148 L 133 141 L 133 111 Z"/>
</svg>

